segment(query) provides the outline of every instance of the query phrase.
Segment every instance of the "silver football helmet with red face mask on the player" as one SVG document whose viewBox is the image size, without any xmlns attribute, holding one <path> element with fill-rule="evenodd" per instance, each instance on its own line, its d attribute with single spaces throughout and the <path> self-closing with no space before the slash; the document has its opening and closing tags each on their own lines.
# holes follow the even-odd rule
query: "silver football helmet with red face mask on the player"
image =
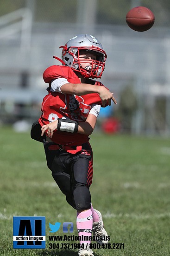
<svg viewBox="0 0 170 256">
<path fill-rule="evenodd" d="M 80 72 L 81 75 L 85 78 L 100 78 L 104 67 L 107 54 L 103 50 L 103 47 L 100 41 L 95 38 L 93 35 L 89 34 L 79 34 L 71 38 L 65 46 L 61 46 L 62 51 L 62 62 L 65 65 L 71 67 L 74 71 Z M 79 55 L 81 50 L 93 52 L 96 55 L 96 60 L 91 60 L 91 65 L 95 66 L 92 70 L 89 68 L 82 68 Z M 81 60 L 82 62 L 82 60 Z M 94 65 L 95 64 L 95 65 Z"/>
</svg>

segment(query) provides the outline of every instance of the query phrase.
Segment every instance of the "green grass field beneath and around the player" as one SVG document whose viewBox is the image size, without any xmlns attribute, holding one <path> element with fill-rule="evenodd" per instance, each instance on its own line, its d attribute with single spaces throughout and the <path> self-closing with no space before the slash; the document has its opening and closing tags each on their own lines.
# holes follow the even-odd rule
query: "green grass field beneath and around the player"
<svg viewBox="0 0 170 256">
<path fill-rule="evenodd" d="M 170 139 L 93 134 L 92 203 L 103 215 L 111 243 L 125 249 L 94 249 L 94 256 L 170 255 Z M 74 222 L 46 166 L 44 148 L 29 133 L 1 128 L 0 256 L 78 256 L 49 249 L 49 222 Z M 13 216 L 46 217 L 46 249 L 13 249 Z M 76 228 L 73 235 L 77 236 Z"/>
</svg>

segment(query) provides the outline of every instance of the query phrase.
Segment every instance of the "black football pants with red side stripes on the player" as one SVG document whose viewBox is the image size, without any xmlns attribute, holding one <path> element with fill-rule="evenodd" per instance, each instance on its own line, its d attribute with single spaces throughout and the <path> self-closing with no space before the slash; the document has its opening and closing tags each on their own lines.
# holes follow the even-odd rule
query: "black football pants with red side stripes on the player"
<svg viewBox="0 0 170 256">
<path fill-rule="evenodd" d="M 51 150 L 50 145 L 55 143 L 44 143 L 47 166 L 67 202 L 77 210 L 90 209 L 93 166 L 89 142 L 82 144 L 82 151 L 75 155 L 64 149 Z"/>
</svg>

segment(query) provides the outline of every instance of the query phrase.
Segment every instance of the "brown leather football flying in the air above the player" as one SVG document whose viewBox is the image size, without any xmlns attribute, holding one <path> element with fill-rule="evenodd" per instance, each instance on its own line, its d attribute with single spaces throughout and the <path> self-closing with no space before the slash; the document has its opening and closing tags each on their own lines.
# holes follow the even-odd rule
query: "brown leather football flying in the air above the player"
<svg viewBox="0 0 170 256">
<path fill-rule="evenodd" d="M 143 6 L 134 7 L 126 14 L 127 25 L 135 31 L 146 31 L 153 26 L 154 22 L 154 14 Z"/>
</svg>

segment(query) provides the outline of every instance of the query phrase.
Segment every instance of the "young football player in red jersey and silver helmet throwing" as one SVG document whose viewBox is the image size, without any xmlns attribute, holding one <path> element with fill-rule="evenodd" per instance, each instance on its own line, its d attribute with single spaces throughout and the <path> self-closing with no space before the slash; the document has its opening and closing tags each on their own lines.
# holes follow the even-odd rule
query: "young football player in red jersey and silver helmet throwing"
<svg viewBox="0 0 170 256">
<path fill-rule="evenodd" d="M 93 177 L 92 134 L 100 108 L 116 104 L 116 100 L 101 82 L 107 55 L 99 40 L 89 34 L 79 34 L 61 46 L 63 65 L 48 67 L 43 74 L 49 83 L 48 95 L 42 102 L 42 139 L 48 168 L 66 200 L 77 211 L 78 235 L 82 237 L 79 256 L 93 256 L 90 236 L 96 242 L 107 243 L 100 211 L 93 208 L 89 187 Z M 32 135 L 34 137 L 34 128 Z M 88 236 L 88 241 L 83 236 Z"/>
</svg>

